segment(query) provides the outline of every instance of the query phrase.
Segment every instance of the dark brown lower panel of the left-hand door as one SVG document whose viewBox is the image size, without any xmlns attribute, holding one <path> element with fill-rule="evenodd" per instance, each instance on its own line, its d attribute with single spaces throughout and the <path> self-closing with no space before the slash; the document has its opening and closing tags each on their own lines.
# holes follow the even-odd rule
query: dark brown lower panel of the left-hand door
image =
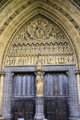
<svg viewBox="0 0 80 120">
<path fill-rule="evenodd" d="M 14 101 L 14 120 L 18 118 L 25 118 L 31 120 L 35 115 L 35 101 L 34 100 L 15 100 Z"/>
</svg>

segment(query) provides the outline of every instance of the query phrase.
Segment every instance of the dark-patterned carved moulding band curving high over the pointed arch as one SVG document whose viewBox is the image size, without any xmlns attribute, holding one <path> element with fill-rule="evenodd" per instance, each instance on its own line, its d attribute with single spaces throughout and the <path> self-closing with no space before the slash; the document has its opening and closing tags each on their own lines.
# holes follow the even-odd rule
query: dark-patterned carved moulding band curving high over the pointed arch
<svg viewBox="0 0 80 120">
<path fill-rule="evenodd" d="M 80 26 L 78 26 L 78 24 L 75 22 L 75 20 L 66 11 L 64 11 L 62 8 L 60 8 L 57 4 L 54 4 L 50 0 L 48 0 L 48 1 L 47 0 L 40 0 L 40 2 L 39 2 L 39 0 L 37 0 L 37 1 L 36 0 L 30 0 L 26 4 L 22 5 L 17 11 L 15 11 L 7 19 L 7 21 L 4 23 L 4 25 L 0 29 L 0 35 L 3 33 L 3 31 L 8 26 L 8 24 L 11 22 L 11 20 L 14 19 L 14 17 L 16 17 L 23 9 L 25 9 L 29 5 L 33 4 L 34 2 L 38 2 L 38 4 L 40 4 L 40 2 L 44 2 L 44 3 L 48 4 L 48 5 L 50 5 L 51 7 L 54 7 L 55 9 L 59 10 L 59 12 L 61 12 L 65 17 L 68 18 L 68 20 L 74 25 L 74 27 L 78 30 L 78 33 L 80 34 L 80 32 L 79 32 Z"/>
</svg>

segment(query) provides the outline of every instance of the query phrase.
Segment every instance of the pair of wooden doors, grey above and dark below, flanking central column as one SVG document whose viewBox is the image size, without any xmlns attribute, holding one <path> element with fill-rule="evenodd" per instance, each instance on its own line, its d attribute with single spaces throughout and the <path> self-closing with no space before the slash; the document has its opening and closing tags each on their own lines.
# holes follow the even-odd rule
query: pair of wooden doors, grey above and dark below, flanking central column
<svg viewBox="0 0 80 120">
<path fill-rule="evenodd" d="M 45 118 L 48 120 L 68 120 L 68 76 L 66 73 L 45 73 L 43 94 Z M 18 118 L 34 119 L 35 95 L 34 73 L 15 74 L 12 109 L 14 120 Z"/>
</svg>

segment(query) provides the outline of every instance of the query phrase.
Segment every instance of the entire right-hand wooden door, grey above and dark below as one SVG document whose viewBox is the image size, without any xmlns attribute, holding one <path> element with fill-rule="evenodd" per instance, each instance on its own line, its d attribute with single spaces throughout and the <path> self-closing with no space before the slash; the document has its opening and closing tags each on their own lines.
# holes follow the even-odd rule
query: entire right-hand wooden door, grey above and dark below
<svg viewBox="0 0 80 120">
<path fill-rule="evenodd" d="M 68 76 L 66 73 L 45 73 L 44 114 L 48 120 L 68 120 Z"/>
</svg>

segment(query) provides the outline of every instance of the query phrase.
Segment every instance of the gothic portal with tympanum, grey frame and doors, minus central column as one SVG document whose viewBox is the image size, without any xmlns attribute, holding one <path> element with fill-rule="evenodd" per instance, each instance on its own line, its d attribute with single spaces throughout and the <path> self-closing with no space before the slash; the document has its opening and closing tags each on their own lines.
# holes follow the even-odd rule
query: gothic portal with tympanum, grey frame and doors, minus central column
<svg viewBox="0 0 80 120">
<path fill-rule="evenodd" d="M 24 117 L 25 120 L 34 118 L 36 96 L 34 72 L 38 58 L 42 59 L 45 72 L 43 86 L 45 118 L 73 120 L 78 117 L 75 56 L 64 31 L 49 19 L 36 16 L 13 38 L 3 62 L 6 66 L 2 101 L 4 118 L 13 117 L 15 120 L 18 116 Z"/>
</svg>

